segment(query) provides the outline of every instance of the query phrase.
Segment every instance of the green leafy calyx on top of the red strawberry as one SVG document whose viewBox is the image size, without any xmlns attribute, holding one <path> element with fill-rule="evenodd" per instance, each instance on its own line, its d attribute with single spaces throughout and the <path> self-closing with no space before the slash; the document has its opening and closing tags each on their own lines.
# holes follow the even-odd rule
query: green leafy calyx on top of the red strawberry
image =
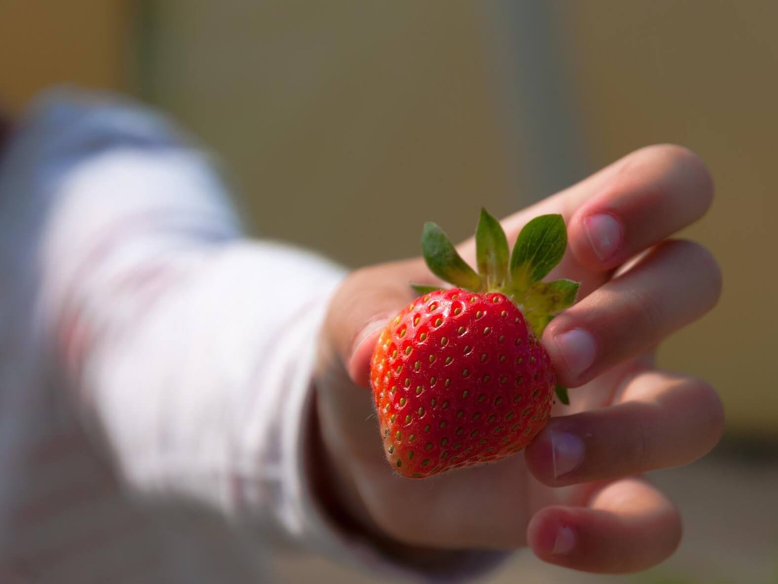
<svg viewBox="0 0 778 584">
<path fill-rule="evenodd" d="M 566 247 L 562 216 L 541 215 L 524 226 L 509 255 L 503 227 L 481 209 L 475 230 L 476 272 L 457 253 L 440 226 L 428 222 L 422 230 L 422 255 L 433 274 L 465 290 L 505 294 L 518 306 L 538 339 L 548 322 L 576 301 L 579 283 L 541 281 L 562 261 Z M 439 289 L 420 284 L 412 287 L 419 294 Z M 556 392 L 562 403 L 569 403 L 566 389 L 558 385 Z"/>
</svg>

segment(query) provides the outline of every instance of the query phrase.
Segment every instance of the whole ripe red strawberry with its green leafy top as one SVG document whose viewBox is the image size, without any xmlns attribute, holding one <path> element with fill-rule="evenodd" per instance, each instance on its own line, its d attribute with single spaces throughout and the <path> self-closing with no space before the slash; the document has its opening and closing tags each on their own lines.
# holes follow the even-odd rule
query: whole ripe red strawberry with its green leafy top
<svg viewBox="0 0 778 584">
<path fill-rule="evenodd" d="M 510 456 L 545 426 L 555 389 L 567 403 L 538 341 L 578 290 L 570 280 L 541 282 L 565 252 L 562 217 L 527 223 L 510 263 L 505 233 L 484 209 L 475 239 L 478 273 L 440 227 L 425 224 L 427 266 L 457 287 L 415 286 L 422 295 L 391 319 L 370 361 L 387 460 L 406 477 Z"/>
</svg>

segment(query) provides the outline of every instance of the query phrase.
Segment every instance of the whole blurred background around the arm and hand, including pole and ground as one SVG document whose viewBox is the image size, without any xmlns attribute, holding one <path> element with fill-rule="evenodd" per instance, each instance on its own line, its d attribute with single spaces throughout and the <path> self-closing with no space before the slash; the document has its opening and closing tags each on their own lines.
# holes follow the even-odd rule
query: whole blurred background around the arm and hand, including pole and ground
<svg viewBox="0 0 778 584">
<path fill-rule="evenodd" d="M 506 215 L 640 146 L 695 150 L 717 200 L 685 235 L 724 297 L 661 363 L 720 389 L 727 435 L 654 476 L 682 547 L 613 577 L 518 554 L 485 582 L 778 582 L 778 3 L 0 0 L 0 47 L 10 111 L 58 83 L 162 107 L 221 157 L 254 233 L 348 266 L 415 255 L 428 219 L 467 237 L 480 206 Z M 278 563 L 278 582 L 366 582 Z"/>
</svg>

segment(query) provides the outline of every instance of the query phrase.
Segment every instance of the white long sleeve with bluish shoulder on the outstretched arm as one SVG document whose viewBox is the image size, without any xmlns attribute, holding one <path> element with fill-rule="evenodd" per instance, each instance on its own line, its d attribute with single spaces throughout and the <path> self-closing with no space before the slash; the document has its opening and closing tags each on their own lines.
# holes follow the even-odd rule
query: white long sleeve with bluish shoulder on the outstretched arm
<svg viewBox="0 0 778 584">
<path fill-rule="evenodd" d="M 61 97 L 39 110 L 37 188 L 0 223 L 35 249 L 62 391 L 128 494 L 208 505 L 262 544 L 442 578 L 341 533 L 307 477 L 317 336 L 343 270 L 246 239 L 209 157 L 164 118 Z M 463 557 L 460 578 L 501 555 Z"/>
</svg>

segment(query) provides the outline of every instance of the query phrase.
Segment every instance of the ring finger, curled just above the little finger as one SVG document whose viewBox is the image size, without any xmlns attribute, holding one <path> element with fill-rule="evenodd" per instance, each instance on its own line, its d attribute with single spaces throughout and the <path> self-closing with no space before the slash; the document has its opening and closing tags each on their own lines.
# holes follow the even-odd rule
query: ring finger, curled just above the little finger
<svg viewBox="0 0 778 584">
<path fill-rule="evenodd" d="M 710 452 L 724 431 L 719 396 L 696 378 L 644 371 L 619 400 L 549 420 L 524 454 L 534 477 L 559 487 L 680 466 Z"/>
</svg>

